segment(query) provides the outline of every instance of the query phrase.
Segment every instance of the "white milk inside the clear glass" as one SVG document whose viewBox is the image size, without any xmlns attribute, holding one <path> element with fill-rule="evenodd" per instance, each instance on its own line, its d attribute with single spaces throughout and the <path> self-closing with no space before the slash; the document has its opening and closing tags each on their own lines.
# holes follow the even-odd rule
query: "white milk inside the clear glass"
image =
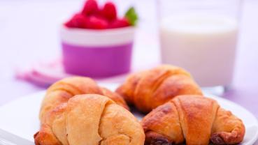
<svg viewBox="0 0 258 145">
<path fill-rule="evenodd" d="M 238 24 L 220 15 L 177 15 L 160 24 L 162 63 L 188 70 L 200 86 L 227 86 L 234 71 Z"/>
</svg>

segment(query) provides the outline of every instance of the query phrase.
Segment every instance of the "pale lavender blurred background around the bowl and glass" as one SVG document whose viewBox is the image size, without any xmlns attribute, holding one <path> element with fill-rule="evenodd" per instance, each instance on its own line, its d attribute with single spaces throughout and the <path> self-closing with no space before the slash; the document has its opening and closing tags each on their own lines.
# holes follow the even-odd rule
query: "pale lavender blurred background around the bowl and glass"
<svg viewBox="0 0 258 145">
<path fill-rule="evenodd" d="M 61 57 L 59 27 L 82 8 L 83 0 L 0 1 L 0 105 L 45 88 L 17 79 L 17 73 L 38 62 Z M 135 6 L 139 15 L 132 70 L 161 63 L 155 0 L 114 1 L 120 15 Z M 103 3 L 103 1 L 101 1 Z M 258 1 L 241 3 L 234 79 L 222 97 L 258 116 Z M 173 54 L 171 55 L 173 57 Z M 220 56 L 217 56 L 220 59 Z M 111 81 L 112 82 L 112 81 Z"/>
</svg>

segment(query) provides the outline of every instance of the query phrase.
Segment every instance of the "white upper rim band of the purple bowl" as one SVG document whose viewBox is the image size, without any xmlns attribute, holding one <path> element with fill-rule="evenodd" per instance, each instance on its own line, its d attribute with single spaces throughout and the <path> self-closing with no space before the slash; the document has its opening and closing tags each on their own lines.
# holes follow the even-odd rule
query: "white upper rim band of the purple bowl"
<svg viewBox="0 0 258 145">
<path fill-rule="evenodd" d="M 117 29 L 78 29 L 61 26 L 62 43 L 79 46 L 124 45 L 134 41 L 136 27 L 128 26 Z"/>
</svg>

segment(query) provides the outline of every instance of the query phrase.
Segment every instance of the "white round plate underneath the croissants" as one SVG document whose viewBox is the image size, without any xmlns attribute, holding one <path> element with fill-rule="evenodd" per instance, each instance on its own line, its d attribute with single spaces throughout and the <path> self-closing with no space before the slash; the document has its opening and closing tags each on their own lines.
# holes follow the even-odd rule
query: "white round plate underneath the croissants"
<svg viewBox="0 0 258 145">
<path fill-rule="evenodd" d="M 102 84 L 102 86 L 114 90 L 117 84 Z M 34 141 L 33 135 L 39 128 L 38 110 L 44 93 L 45 91 L 41 91 L 24 96 L 0 107 L 0 128 L 24 139 Z M 217 100 L 224 109 L 230 110 L 243 120 L 246 132 L 242 144 L 251 145 L 255 143 L 258 138 L 258 123 L 255 116 L 234 102 L 217 96 L 206 96 Z"/>
</svg>

